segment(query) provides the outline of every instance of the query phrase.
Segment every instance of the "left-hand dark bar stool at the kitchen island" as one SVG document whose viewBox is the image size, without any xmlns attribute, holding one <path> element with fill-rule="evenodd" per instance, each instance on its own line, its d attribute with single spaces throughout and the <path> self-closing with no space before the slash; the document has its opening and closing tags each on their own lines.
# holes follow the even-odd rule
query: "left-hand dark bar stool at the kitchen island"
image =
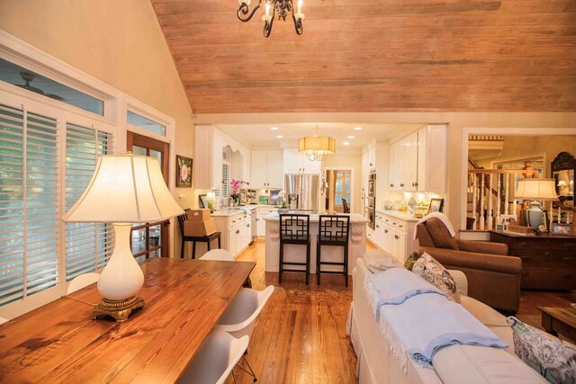
<svg viewBox="0 0 576 384">
<path fill-rule="evenodd" d="M 306 263 L 284 262 L 284 245 L 306 246 Z M 286 269 L 284 265 L 302 265 L 302 269 Z M 310 215 L 295 213 L 280 214 L 280 266 L 278 283 L 282 284 L 283 272 L 306 273 L 306 284 L 310 276 Z"/>
</svg>

